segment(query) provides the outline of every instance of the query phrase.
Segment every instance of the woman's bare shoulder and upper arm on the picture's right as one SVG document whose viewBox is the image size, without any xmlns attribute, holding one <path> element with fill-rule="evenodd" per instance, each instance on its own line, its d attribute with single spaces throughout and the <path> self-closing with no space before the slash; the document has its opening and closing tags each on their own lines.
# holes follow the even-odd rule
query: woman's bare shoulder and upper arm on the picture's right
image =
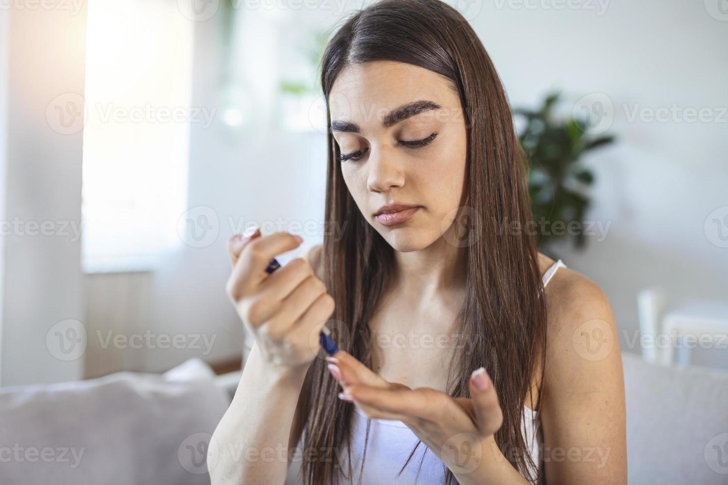
<svg viewBox="0 0 728 485">
<path fill-rule="evenodd" d="M 552 460 L 545 467 L 546 479 L 626 484 L 625 386 L 612 305 L 598 284 L 569 268 L 554 273 L 545 299 L 547 344 L 540 409 L 545 446 L 609 452 L 606 465 Z"/>
</svg>

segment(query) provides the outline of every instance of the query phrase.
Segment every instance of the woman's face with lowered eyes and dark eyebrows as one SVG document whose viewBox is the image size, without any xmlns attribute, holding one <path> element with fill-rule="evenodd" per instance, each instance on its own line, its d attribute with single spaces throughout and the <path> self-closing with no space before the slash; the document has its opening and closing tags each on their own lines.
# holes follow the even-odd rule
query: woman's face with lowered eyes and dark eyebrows
<svg viewBox="0 0 728 485">
<path fill-rule="evenodd" d="M 464 196 L 466 121 L 450 81 L 405 63 L 350 65 L 329 108 L 339 151 L 351 156 L 339 161 L 344 182 L 366 220 L 397 251 L 437 241 Z M 387 204 L 419 207 L 376 217 Z"/>
</svg>

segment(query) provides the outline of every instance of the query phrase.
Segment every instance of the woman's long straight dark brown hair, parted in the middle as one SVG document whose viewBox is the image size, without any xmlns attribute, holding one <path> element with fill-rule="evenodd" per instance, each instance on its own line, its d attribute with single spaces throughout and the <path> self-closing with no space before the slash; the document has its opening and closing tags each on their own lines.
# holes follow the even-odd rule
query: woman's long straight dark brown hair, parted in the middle
<svg viewBox="0 0 728 485">
<path fill-rule="evenodd" d="M 329 93 L 336 76 L 347 65 L 376 60 L 434 71 L 450 79 L 459 93 L 467 124 L 464 195 L 483 225 L 477 228 L 479 237 L 462 248 L 467 256 L 463 268 L 467 291 L 457 332 L 472 340 L 468 351 L 459 350 L 454 356 L 448 390 L 451 396 L 470 397 L 470 373 L 486 367 L 503 411 L 496 444 L 517 470 L 534 481 L 537 477 L 530 476 L 527 468 L 534 462 L 526 452 L 521 423 L 539 359 L 543 376 L 546 310 L 534 239 L 526 233 L 502 231 L 523 228 L 532 220 L 523 152 L 502 83 L 475 31 L 456 9 L 439 0 L 378 1 L 348 17 L 325 49 L 321 81 L 328 124 Z M 346 223 L 347 228 L 340 239 L 325 236 L 323 243 L 324 281 L 336 301 L 329 326 L 341 337 L 341 348 L 371 368 L 368 322 L 392 281 L 394 249 L 361 215 L 341 175 L 339 146 L 331 131 L 327 136 L 325 220 L 339 227 Z M 308 381 L 314 391 L 309 394 L 304 447 L 349 452 L 353 405 L 337 398 L 338 384 L 325 364 L 317 358 L 309 368 Z M 333 453 L 331 460 L 304 460 L 305 483 L 333 484 L 336 470 L 344 473 L 339 458 Z M 351 477 L 348 462 L 345 476 Z M 450 470 L 445 478 L 452 483 Z"/>
</svg>

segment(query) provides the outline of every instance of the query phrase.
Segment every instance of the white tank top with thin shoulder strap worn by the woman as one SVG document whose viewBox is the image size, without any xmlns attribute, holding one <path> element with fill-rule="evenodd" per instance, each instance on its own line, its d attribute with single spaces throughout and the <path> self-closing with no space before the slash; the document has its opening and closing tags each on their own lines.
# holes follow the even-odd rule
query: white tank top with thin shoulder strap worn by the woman
<svg viewBox="0 0 728 485">
<path fill-rule="evenodd" d="M 558 260 L 550 268 L 546 270 L 543 276 L 543 284 L 546 286 L 558 268 L 566 268 L 561 260 Z M 540 422 L 536 417 L 536 412 L 526 408 L 526 426 L 521 424 L 521 433 L 523 433 L 526 446 L 531 449 L 531 458 L 539 467 L 539 445 L 543 443 L 542 430 Z M 357 484 L 358 473 L 361 466 L 361 457 L 364 452 L 364 439 L 366 434 L 367 416 L 357 406 L 354 406 L 354 422 L 352 422 L 352 473 L 354 477 L 352 481 L 345 480 L 342 476 L 337 476 L 339 484 Z M 412 460 L 403 470 L 400 476 L 397 476 L 400 469 L 407 461 L 407 457 L 414 449 L 419 438 L 407 428 L 407 425 L 396 420 L 371 420 L 369 428 L 369 439 L 366 446 L 366 459 L 364 461 L 363 485 L 442 485 L 445 483 L 445 465 L 443 462 L 425 446 L 420 444 Z M 422 454 L 424 453 L 424 460 Z M 339 453 L 341 460 L 347 459 L 347 452 L 344 449 Z M 422 468 L 419 469 L 422 460 Z M 419 469 L 419 476 L 418 476 Z M 344 464 L 344 470 L 348 470 Z M 535 470 L 533 470 L 535 471 Z M 533 473 L 537 476 L 537 473 Z"/>
</svg>

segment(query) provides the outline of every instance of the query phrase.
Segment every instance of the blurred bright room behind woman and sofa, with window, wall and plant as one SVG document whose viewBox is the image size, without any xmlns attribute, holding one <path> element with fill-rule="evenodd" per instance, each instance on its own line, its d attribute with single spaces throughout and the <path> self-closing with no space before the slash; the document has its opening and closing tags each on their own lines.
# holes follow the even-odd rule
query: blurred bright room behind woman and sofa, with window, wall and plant
<svg viewBox="0 0 728 485">
<path fill-rule="evenodd" d="M 2 387 L 240 368 L 226 239 L 331 230 L 317 63 L 369 3 L 0 3 Z M 725 374 L 726 1 L 446 3 L 505 85 L 542 251 L 623 353 Z"/>
</svg>

